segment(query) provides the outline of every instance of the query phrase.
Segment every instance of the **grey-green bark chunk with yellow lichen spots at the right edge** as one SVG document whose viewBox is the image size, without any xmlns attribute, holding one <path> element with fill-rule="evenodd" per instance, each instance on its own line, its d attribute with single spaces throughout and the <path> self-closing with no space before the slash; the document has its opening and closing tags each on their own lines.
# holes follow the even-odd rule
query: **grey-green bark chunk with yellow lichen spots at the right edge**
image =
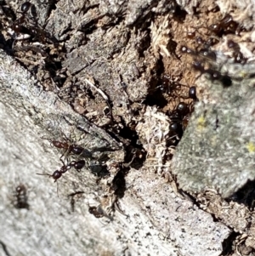
<svg viewBox="0 0 255 256">
<path fill-rule="evenodd" d="M 222 70 L 233 77 L 229 88 L 205 77 L 197 82 L 204 93 L 173 157 L 173 173 L 184 191 L 210 187 L 228 197 L 255 178 L 255 65 L 226 61 Z"/>
</svg>

